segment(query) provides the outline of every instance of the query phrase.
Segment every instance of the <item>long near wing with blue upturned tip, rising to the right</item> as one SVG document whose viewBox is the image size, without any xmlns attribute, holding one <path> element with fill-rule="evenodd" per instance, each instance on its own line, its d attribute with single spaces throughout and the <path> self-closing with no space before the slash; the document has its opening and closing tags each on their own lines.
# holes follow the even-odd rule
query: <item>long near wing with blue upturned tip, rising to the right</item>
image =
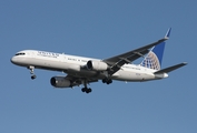
<svg viewBox="0 0 197 133">
<path fill-rule="evenodd" d="M 116 73 L 124 64 L 126 63 L 131 63 L 132 61 L 137 60 L 140 57 L 144 57 L 145 54 L 147 54 L 149 52 L 149 49 L 168 40 L 168 35 L 169 35 L 170 30 L 168 30 L 168 32 L 166 33 L 164 39 L 160 39 L 154 43 L 147 44 L 145 47 L 138 48 L 136 50 L 131 50 L 129 52 L 109 58 L 109 59 L 105 59 L 104 62 L 106 62 L 108 65 L 110 65 L 110 69 L 108 71 L 108 74 L 112 75 L 114 73 Z"/>
</svg>

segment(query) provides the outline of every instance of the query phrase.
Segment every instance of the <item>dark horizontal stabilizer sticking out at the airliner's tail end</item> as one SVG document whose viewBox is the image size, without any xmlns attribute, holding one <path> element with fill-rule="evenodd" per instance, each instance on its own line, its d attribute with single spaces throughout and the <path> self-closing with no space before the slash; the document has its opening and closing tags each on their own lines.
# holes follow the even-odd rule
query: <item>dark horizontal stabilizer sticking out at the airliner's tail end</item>
<svg viewBox="0 0 197 133">
<path fill-rule="evenodd" d="M 168 73 L 168 72 L 171 72 L 171 71 L 174 71 L 174 70 L 176 70 L 176 69 L 179 69 L 180 66 L 184 66 L 184 65 L 186 65 L 186 64 L 187 64 L 187 62 L 179 63 L 179 64 L 176 64 L 176 65 L 173 65 L 173 66 L 169 66 L 169 68 L 159 70 L 159 71 L 155 72 L 154 74 Z"/>
</svg>

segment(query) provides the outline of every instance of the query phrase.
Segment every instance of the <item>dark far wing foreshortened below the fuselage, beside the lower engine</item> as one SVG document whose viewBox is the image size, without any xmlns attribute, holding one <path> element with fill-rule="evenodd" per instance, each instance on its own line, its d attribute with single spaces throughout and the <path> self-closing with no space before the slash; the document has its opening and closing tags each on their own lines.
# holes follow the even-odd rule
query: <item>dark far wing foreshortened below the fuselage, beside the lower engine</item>
<svg viewBox="0 0 197 133">
<path fill-rule="evenodd" d="M 65 79 L 68 79 L 72 82 L 72 86 L 80 85 L 80 84 L 89 84 L 92 82 L 98 82 L 98 79 L 91 79 L 91 78 L 79 78 L 75 75 L 68 74 Z"/>
</svg>

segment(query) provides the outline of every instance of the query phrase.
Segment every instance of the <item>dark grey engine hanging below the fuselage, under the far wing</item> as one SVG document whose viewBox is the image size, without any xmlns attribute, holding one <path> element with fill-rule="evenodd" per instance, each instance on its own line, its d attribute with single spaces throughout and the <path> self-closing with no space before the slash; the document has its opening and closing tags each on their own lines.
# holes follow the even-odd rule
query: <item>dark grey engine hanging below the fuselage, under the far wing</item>
<svg viewBox="0 0 197 133">
<path fill-rule="evenodd" d="M 71 82 L 65 79 L 65 76 L 52 76 L 50 79 L 50 83 L 55 88 L 70 88 L 71 86 Z"/>
</svg>

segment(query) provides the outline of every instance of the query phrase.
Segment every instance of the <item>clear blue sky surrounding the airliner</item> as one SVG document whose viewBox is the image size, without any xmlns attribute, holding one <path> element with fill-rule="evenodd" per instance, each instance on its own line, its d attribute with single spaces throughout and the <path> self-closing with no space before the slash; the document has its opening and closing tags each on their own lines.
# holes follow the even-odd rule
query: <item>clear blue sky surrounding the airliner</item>
<svg viewBox="0 0 197 133">
<path fill-rule="evenodd" d="M 1 0 L 1 133 L 196 133 L 195 0 Z M 10 58 L 33 49 L 106 59 L 161 39 L 162 68 L 188 65 L 160 81 L 101 82 L 58 90 L 60 72 L 30 71 Z M 134 62 L 139 63 L 142 59 Z"/>
</svg>

